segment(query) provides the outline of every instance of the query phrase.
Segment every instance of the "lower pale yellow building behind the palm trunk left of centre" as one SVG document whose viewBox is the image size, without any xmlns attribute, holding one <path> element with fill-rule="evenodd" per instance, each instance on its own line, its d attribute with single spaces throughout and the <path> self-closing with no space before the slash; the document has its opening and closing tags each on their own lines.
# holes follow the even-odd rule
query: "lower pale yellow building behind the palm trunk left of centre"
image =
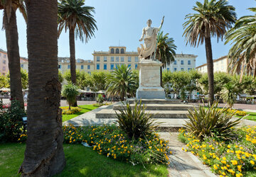
<svg viewBox="0 0 256 177">
<path fill-rule="evenodd" d="M 90 74 L 94 70 L 94 64 L 92 60 L 76 59 L 75 69 Z M 69 57 L 58 57 L 58 69 L 64 74 L 70 71 L 70 58 Z"/>
</svg>

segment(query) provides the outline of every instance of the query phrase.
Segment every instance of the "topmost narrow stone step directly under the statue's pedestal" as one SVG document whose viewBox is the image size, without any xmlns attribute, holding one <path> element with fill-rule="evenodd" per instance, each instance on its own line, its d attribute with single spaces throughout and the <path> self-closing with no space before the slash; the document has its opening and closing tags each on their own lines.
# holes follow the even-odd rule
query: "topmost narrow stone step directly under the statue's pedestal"
<svg viewBox="0 0 256 177">
<path fill-rule="evenodd" d="M 134 99 L 134 98 L 129 98 L 127 99 L 127 103 L 131 104 L 134 103 L 134 101 L 142 101 L 142 104 L 179 104 L 181 103 L 181 100 L 178 99 Z"/>
</svg>

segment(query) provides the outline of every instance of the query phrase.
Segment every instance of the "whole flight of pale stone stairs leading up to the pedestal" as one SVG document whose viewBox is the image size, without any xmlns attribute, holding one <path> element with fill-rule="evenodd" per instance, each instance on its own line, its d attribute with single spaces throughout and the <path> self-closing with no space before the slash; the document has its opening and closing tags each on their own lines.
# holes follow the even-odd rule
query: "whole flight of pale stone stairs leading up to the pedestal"
<svg viewBox="0 0 256 177">
<path fill-rule="evenodd" d="M 127 102 L 133 107 L 134 99 Z M 183 127 L 188 114 L 188 109 L 193 109 L 193 105 L 183 104 L 178 100 L 165 99 L 142 99 L 142 104 L 146 107 L 146 113 L 153 114 L 156 122 L 161 122 L 160 127 L 163 129 Z M 96 113 L 98 119 L 114 119 L 119 110 L 124 110 L 125 106 L 122 102 L 110 105 Z"/>
</svg>

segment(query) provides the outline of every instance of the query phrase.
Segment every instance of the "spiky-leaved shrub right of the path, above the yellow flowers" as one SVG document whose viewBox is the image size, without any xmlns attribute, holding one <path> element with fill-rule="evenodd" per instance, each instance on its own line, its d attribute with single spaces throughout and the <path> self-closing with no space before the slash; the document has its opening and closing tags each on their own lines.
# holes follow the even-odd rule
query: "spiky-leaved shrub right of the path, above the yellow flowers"
<svg viewBox="0 0 256 177">
<path fill-rule="evenodd" d="M 210 105 L 210 108 L 206 109 L 203 105 L 199 105 L 198 110 L 188 110 L 188 118 L 185 127 L 189 132 L 203 139 L 203 137 L 218 137 L 220 139 L 230 139 L 235 135 L 231 128 L 238 125 L 241 118 L 232 121 L 233 114 L 227 114 L 227 108 L 218 108 L 218 102 Z"/>
</svg>

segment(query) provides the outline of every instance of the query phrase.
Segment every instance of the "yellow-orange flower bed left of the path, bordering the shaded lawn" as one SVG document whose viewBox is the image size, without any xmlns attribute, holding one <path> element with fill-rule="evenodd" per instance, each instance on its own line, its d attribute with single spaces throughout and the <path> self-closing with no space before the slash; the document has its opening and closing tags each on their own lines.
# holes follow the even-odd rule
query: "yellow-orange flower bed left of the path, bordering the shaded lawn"
<svg viewBox="0 0 256 177">
<path fill-rule="evenodd" d="M 87 142 L 98 154 L 135 164 L 169 164 L 167 141 L 154 133 L 146 139 L 129 140 L 118 127 L 112 125 L 74 127 L 64 126 L 64 142 Z"/>
</svg>

